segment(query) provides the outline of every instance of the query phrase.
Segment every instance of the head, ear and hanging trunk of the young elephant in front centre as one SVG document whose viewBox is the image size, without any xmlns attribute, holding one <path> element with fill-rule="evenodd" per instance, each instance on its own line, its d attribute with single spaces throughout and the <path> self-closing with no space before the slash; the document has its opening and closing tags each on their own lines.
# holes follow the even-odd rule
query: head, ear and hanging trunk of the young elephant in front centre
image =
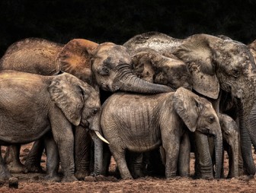
<svg viewBox="0 0 256 193">
<path fill-rule="evenodd" d="M 174 93 L 174 109 L 190 131 L 213 135 L 216 147 L 216 178 L 219 179 L 222 167 L 222 131 L 212 104 L 180 87 Z"/>
</svg>

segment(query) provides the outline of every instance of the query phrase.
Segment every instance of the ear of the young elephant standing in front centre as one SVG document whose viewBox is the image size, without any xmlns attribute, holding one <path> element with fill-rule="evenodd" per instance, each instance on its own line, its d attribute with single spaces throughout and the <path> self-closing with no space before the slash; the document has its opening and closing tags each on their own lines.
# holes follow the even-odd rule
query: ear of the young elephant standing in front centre
<svg viewBox="0 0 256 193">
<path fill-rule="evenodd" d="M 196 131 L 197 119 L 203 109 L 200 97 L 184 87 L 179 87 L 174 93 L 174 109 L 187 128 L 192 132 Z"/>
</svg>

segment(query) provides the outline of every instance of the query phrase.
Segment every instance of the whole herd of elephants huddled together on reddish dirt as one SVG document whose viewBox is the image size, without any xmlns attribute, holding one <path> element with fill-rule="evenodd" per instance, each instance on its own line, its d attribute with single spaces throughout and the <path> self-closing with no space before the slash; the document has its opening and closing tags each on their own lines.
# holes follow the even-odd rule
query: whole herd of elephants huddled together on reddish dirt
<svg viewBox="0 0 256 193">
<path fill-rule="evenodd" d="M 208 34 L 13 43 L 0 60 L 0 179 L 42 172 L 44 149 L 55 182 L 107 175 L 111 156 L 122 179 L 158 166 L 167 179 L 189 176 L 191 151 L 194 177 L 219 179 L 223 150 L 228 178 L 254 176 L 255 59 L 255 42 Z M 22 164 L 21 145 L 32 141 Z"/>
</svg>

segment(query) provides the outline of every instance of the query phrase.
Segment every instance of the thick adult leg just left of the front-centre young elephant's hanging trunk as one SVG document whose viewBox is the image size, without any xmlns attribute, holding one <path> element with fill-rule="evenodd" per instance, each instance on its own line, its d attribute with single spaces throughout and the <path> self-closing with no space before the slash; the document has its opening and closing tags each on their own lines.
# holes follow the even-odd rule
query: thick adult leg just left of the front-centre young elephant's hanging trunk
<svg viewBox="0 0 256 193">
<path fill-rule="evenodd" d="M 195 132 L 192 134 L 192 143 L 195 149 L 195 174 L 196 179 L 213 179 L 213 163 L 210 156 L 209 142 L 205 134 Z"/>
</svg>

